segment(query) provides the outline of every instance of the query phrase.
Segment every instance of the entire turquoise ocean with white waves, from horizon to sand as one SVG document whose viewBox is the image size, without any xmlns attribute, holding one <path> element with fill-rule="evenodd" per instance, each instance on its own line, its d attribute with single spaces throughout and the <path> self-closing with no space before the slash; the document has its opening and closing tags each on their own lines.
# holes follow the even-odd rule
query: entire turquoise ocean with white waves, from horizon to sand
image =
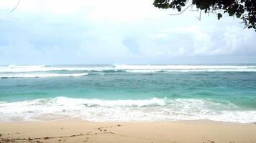
<svg viewBox="0 0 256 143">
<path fill-rule="evenodd" d="M 0 66 L 0 122 L 256 122 L 256 65 Z"/>
</svg>

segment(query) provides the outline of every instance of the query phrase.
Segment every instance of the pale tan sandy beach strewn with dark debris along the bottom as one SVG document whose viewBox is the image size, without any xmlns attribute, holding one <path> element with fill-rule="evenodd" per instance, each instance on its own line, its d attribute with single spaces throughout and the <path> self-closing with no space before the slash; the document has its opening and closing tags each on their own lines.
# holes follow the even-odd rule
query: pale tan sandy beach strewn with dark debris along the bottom
<svg viewBox="0 0 256 143">
<path fill-rule="evenodd" d="M 256 142 L 256 124 L 180 122 L 52 122 L 0 124 L 0 142 Z"/>
</svg>

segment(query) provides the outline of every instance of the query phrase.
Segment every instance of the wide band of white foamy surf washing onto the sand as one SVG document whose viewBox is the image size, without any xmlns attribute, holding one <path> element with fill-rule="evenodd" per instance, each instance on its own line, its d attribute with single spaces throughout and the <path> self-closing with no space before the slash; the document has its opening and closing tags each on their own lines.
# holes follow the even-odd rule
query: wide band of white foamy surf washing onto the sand
<svg viewBox="0 0 256 143">
<path fill-rule="evenodd" d="M 43 120 L 44 116 L 79 117 L 94 122 L 176 121 L 210 119 L 221 122 L 256 122 L 255 110 L 207 99 L 102 100 L 56 97 L 24 102 L 1 102 L 1 122 L 13 118 Z"/>
</svg>

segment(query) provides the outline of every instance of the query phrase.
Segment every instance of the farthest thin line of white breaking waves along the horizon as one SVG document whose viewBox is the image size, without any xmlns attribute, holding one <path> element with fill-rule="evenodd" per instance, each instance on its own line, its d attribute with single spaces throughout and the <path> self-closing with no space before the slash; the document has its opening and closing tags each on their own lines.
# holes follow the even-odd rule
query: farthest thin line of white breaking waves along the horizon
<svg viewBox="0 0 256 143">
<path fill-rule="evenodd" d="M 128 71 L 152 73 L 157 71 L 256 71 L 256 66 L 234 65 L 126 65 L 114 66 L 1 66 L 0 72 L 32 71 Z"/>
</svg>

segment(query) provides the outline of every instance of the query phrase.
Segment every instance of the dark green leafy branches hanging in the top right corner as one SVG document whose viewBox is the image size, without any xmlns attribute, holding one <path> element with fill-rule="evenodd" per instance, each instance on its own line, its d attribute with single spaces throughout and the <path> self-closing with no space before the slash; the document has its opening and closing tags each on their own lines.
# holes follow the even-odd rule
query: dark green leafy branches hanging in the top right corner
<svg viewBox="0 0 256 143">
<path fill-rule="evenodd" d="M 160 9 L 177 9 L 180 13 L 190 6 L 196 6 L 201 12 L 214 13 L 218 19 L 222 14 L 227 13 L 229 16 L 237 16 L 244 22 L 244 28 L 253 28 L 256 31 L 256 0 L 155 0 L 154 6 Z M 182 7 L 186 9 L 181 11 Z"/>
</svg>

